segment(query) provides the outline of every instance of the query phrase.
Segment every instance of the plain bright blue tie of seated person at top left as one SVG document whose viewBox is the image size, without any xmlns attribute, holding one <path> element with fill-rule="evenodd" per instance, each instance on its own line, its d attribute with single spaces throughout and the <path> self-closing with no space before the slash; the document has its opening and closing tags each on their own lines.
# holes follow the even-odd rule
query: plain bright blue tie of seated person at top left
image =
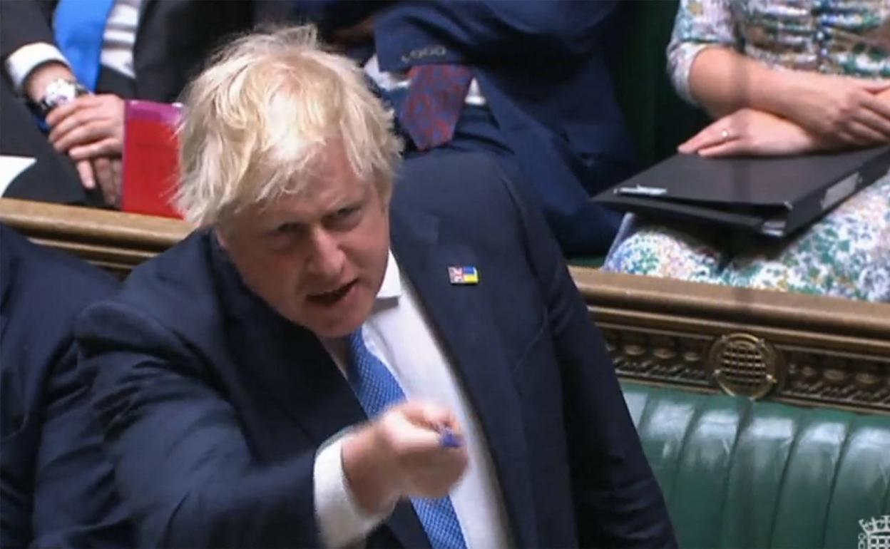
<svg viewBox="0 0 890 549">
<path fill-rule="evenodd" d="M 54 12 L 56 44 L 77 81 L 96 91 L 105 25 L 115 0 L 59 0 Z"/>
</svg>

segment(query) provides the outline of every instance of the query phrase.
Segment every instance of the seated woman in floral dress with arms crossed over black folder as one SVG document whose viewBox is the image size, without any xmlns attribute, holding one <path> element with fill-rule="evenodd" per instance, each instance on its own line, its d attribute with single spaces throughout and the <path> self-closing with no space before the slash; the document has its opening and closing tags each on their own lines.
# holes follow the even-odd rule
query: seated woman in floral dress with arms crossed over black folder
<svg viewBox="0 0 890 549">
<path fill-rule="evenodd" d="M 890 142 L 886 2 L 684 0 L 668 59 L 679 93 L 716 118 L 681 152 L 773 156 Z M 731 249 L 713 228 L 625 223 L 606 270 L 890 301 L 890 176 L 780 241 Z"/>
</svg>

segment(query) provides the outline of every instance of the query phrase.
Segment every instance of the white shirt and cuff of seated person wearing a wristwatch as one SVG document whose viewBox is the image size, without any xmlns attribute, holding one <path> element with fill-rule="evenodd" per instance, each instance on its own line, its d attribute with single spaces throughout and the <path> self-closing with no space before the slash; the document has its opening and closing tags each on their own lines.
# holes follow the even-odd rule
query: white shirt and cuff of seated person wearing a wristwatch
<svg viewBox="0 0 890 549">
<path fill-rule="evenodd" d="M 136 74 L 133 48 L 136 43 L 141 5 L 142 0 L 115 0 L 105 25 L 105 33 L 102 35 L 101 65 L 131 78 Z M 59 61 L 70 67 L 68 60 L 55 45 L 35 42 L 25 44 L 10 53 L 4 68 L 16 92 L 21 93 L 25 79 L 31 71 L 48 61 Z"/>
</svg>

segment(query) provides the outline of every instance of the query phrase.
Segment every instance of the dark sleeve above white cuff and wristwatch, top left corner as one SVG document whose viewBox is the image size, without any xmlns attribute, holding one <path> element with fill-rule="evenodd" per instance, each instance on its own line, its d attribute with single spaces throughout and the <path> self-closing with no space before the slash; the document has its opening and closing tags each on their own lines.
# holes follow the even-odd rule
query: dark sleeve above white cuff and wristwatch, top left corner
<svg viewBox="0 0 890 549">
<path fill-rule="evenodd" d="M 52 5 L 37 0 L 0 1 L 0 61 L 25 44 L 55 44 Z"/>
</svg>

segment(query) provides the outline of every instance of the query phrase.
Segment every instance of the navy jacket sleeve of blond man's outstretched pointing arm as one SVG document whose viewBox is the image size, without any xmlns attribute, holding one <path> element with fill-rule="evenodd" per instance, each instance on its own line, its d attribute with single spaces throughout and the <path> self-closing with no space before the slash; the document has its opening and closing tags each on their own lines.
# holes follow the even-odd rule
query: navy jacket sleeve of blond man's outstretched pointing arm
<svg viewBox="0 0 890 549">
<path fill-rule="evenodd" d="M 177 336 L 101 303 L 80 318 L 78 341 L 139 545 L 321 545 L 314 453 L 257 463 L 235 410 Z"/>
</svg>

